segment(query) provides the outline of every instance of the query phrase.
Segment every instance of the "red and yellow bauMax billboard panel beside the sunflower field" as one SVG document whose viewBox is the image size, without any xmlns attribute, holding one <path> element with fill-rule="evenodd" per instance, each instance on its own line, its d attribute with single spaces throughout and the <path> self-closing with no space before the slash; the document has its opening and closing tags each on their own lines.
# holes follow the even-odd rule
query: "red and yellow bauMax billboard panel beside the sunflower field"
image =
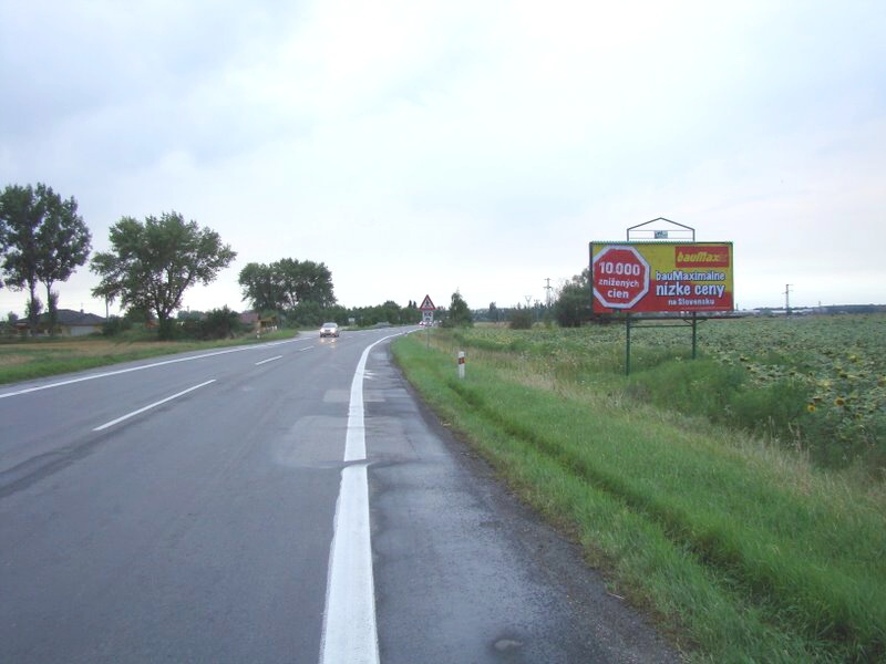
<svg viewBox="0 0 886 664">
<path fill-rule="evenodd" d="M 594 312 L 732 311 L 732 242 L 591 242 Z"/>
</svg>

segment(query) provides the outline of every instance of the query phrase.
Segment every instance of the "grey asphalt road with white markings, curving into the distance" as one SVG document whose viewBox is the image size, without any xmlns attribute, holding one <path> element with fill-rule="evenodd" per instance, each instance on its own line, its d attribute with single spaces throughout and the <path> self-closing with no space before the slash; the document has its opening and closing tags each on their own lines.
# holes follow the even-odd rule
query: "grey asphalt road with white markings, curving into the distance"
<svg viewBox="0 0 886 664">
<path fill-rule="evenodd" d="M 0 662 L 676 661 L 418 403 L 399 332 L 0 388 Z"/>
</svg>

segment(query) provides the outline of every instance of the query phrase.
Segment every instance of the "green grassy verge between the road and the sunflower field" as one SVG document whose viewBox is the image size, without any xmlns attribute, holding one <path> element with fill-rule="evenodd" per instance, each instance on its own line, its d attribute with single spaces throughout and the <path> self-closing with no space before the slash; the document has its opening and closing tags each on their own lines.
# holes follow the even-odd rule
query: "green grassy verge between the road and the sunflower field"
<svg viewBox="0 0 886 664">
<path fill-rule="evenodd" d="M 724 330 L 734 336 L 735 324 Z M 720 375 L 714 360 L 638 347 L 643 386 L 622 375 L 621 347 L 606 334 L 435 330 L 430 350 L 405 338 L 393 352 L 431 407 L 576 533 L 614 591 L 648 610 L 690 660 L 883 661 L 886 489 L 861 468 L 876 457 L 823 467 L 826 455 L 797 452 L 772 422 L 755 429 L 677 412 L 651 395 L 666 390 L 655 374 L 696 381 L 690 394 L 722 392 L 705 383 Z M 451 369 L 461 352 L 468 381 Z M 801 411 L 810 398 L 787 397 Z"/>
</svg>

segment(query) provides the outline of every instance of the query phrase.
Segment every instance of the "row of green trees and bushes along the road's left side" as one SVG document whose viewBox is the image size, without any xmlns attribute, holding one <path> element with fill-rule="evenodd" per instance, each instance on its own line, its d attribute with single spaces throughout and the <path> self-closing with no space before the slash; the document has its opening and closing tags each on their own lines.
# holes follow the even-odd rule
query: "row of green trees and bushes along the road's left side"
<svg viewBox="0 0 886 664">
<path fill-rule="evenodd" d="M 110 245 L 90 261 L 90 270 L 100 279 L 92 295 L 109 303 L 120 301 L 130 320 L 156 320 L 161 339 L 175 334 L 174 314 L 181 312 L 185 292 L 214 281 L 237 257 L 216 231 L 186 221 L 176 211 L 144 220 L 122 217 L 110 229 Z M 73 197 L 63 199 L 43 184 L 10 185 L 0 193 L 0 288 L 28 291 L 31 331 L 37 330 L 43 311 L 38 287 L 45 288 L 52 332 L 59 299 L 54 286 L 85 264 L 91 250 L 92 236 Z M 253 309 L 290 325 L 319 325 L 330 319 L 364 325 L 421 320 L 412 301 L 405 308 L 393 301 L 354 309 L 338 305 L 332 273 L 322 262 L 293 258 L 269 264 L 250 262 L 240 270 L 238 282 Z M 227 307 L 212 313 L 212 330 L 234 326 L 236 313 Z M 125 323 L 114 321 L 109 329 L 122 326 Z"/>
</svg>

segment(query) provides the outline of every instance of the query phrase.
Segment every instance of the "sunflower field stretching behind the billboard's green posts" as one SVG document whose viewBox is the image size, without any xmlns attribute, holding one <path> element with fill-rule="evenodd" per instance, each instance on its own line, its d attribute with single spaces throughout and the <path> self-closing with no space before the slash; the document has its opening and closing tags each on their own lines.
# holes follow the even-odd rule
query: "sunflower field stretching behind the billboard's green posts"
<svg viewBox="0 0 886 664">
<path fill-rule="evenodd" d="M 822 467 L 886 478 L 886 317 L 745 319 L 642 330 L 629 381 L 624 325 L 460 333 L 478 350 L 518 353 L 562 384 L 609 384 L 625 396 L 801 448 Z"/>
</svg>

